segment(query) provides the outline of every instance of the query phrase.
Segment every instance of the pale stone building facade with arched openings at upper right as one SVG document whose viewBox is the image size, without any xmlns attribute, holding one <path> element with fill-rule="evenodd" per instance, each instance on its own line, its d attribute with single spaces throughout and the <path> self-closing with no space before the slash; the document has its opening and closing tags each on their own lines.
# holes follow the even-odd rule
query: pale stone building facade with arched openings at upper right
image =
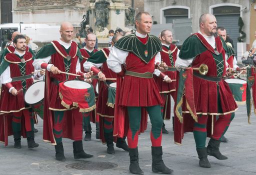
<svg viewBox="0 0 256 175">
<path fill-rule="evenodd" d="M 246 33 L 243 42 L 247 43 L 247 49 L 254 40 L 255 0 L 144 0 L 144 8 L 152 14 L 153 20 L 158 24 L 172 23 L 173 19 L 190 18 L 192 32 L 198 31 L 202 13 L 214 14 L 218 26 L 227 28 L 227 33 L 231 34 L 235 44 L 240 35 L 238 18 L 242 17 L 242 30 Z"/>
</svg>

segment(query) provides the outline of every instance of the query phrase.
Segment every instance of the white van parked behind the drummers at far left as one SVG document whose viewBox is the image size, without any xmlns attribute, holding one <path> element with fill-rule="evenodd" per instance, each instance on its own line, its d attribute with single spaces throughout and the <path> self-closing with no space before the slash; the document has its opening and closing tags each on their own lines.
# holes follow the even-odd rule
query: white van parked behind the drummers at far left
<svg viewBox="0 0 256 175">
<path fill-rule="evenodd" d="M 59 39 L 60 25 L 45 23 L 5 23 L 0 24 L 0 51 L 4 48 L 7 35 L 19 31 L 29 36 L 31 42 L 50 42 Z"/>
</svg>

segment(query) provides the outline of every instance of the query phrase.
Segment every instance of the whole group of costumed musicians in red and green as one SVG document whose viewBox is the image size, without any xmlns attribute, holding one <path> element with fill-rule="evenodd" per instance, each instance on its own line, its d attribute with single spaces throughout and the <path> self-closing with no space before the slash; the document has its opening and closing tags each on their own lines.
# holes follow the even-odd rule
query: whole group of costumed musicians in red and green
<svg viewBox="0 0 256 175">
<path fill-rule="evenodd" d="M 7 145 L 8 135 L 13 135 L 14 148 L 21 148 L 22 136 L 28 148 L 38 147 L 35 108 L 24 94 L 33 79 L 44 77 L 44 98 L 39 106 L 42 137 L 54 145 L 56 160 L 65 161 L 62 137 L 73 140 L 74 159 L 93 156 L 82 145 L 83 128 L 92 121 L 97 123 L 107 153 L 115 153 L 115 142 L 129 152 L 130 172 L 143 174 L 137 144 L 149 116 L 152 171 L 171 174 L 168 162 L 165 165 L 162 160 L 161 145 L 162 133 L 168 132 L 163 119 L 170 119 L 171 111 L 174 142 L 181 144 L 183 133 L 192 131 L 199 166 L 211 167 L 207 155 L 227 159 L 219 145 L 237 105 L 223 77 L 232 77 L 239 67 L 233 48 L 225 42 L 225 28 L 217 28 L 214 15 L 204 13 L 198 32 L 178 49 L 172 44 L 170 30 L 162 30 L 157 37 L 149 34 L 151 26 L 151 15 L 139 12 L 134 33 L 115 34 L 110 47 L 97 50 L 93 33 L 86 35 L 85 46 L 79 48 L 72 41 L 72 24 L 62 22 L 60 39 L 44 45 L 36 55 L 21 33 L 12 33 L 13 43 L 1 55 L 0 141 Z M 203 70 L 198 70 L 202 64 Z M 29 98 L 38 93 L 35 88 Z"/>
</svg>

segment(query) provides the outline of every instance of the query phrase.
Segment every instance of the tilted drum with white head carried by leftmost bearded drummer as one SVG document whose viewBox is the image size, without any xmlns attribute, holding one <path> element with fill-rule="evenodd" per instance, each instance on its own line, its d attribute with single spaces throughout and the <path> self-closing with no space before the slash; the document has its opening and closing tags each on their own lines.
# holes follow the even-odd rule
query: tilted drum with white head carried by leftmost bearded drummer
<svg viewBox="0 0 256 175">
<path fill-rule="evenodd" d="M 28 87 L 24 100 L 43 119 L 44 81 L 36 81 Z"/>
</svg>

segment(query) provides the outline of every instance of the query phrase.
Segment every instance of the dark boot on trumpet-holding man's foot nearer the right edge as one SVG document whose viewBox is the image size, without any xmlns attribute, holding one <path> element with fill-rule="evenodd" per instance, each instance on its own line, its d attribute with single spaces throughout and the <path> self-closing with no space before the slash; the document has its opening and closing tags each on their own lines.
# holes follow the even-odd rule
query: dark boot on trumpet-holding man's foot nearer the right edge
<svg viewBox="0 0 256 175">
<path fill-rule="evenodd" d="M 214 156 L 219 160 L 227 159 L 227 156 L 222 155 L 219 151 L 219 144 L 220 140 L 215 140 L 210 138 L 208 145 L 207 145 L 207 153 L 208 155 Z"/>
</svg>

